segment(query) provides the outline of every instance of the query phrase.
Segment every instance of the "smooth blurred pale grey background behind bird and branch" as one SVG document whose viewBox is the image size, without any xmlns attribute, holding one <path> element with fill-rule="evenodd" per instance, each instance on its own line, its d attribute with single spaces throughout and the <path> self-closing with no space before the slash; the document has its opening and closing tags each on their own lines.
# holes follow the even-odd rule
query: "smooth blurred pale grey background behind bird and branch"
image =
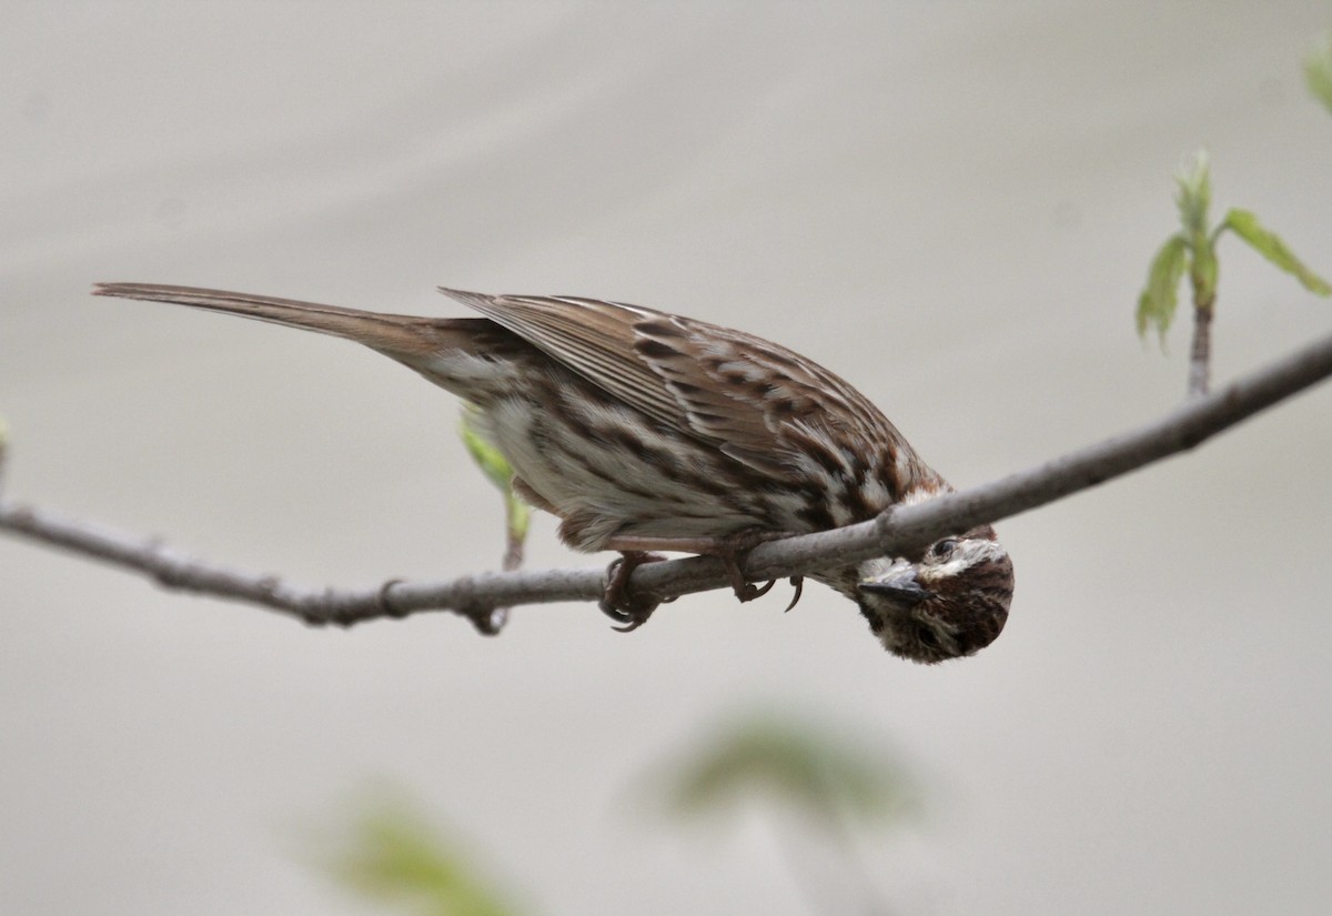
<svg viewBox="0 0 1332 916">
<path fill-rule="evenodd" d="M 498 562 L 452 398 L 338 341 L 95 300 L 422 314 L 436 284 L 775 338 L 975 485 L 1172 409 L 1132 310 L 1171 174 L 1332 270 L 1325 3 L 15 4 L 0 29 L 8 493 L 310 584 Z M 1219 209 L 1219 212 L 1221 212 Z M 1223 244 L 1216 377 L 1332 328 Z M 1332 386 L 1000 526 L 1003 638 L 923 668 L 811 587 L 318 631 L 0 538 L 0 911 L 370 912 L 301 863 L 366 780 L 543 913 L 806 913 L 761 815 L 643 772 L 735 710 L 890 747 L 899 912 L 1325 913 Z M 589 566 L 543 518 L 530 566 Z M 781 591 L 781 588 L 778 590 Z"/>
</svg>

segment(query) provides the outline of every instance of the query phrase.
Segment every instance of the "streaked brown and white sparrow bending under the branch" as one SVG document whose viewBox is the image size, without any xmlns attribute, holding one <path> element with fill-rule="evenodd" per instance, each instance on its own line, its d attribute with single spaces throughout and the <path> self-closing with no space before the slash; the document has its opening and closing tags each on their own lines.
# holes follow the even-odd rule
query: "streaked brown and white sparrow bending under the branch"
<svg viewBox="0 0 1332 916">
<path fill-rule="evenodd" d="M 575 550 L 737 553 L 786 533 L 862 522 L 950 491 L 859 391 L 738 330 L 618 302 L 441 292 L 482 318 L 422 318 L 188 286 L 101 284 L 99 296 L 176 302 L 344 337 L 480 409 L 517 490 L 562 519 Z M 621 571 L 623 571 L 622 567 Z M 891 652 L 971 655 L 1003 628 L 1012 562 L 988 526 L 811 578 L 854 600 Z M 625 576 L 618 576 L 623 584 Z M 610 590 L 607 590 L 610 591 Z M 607 595 L 631 624 L 654 602 Z"/>
</svg>

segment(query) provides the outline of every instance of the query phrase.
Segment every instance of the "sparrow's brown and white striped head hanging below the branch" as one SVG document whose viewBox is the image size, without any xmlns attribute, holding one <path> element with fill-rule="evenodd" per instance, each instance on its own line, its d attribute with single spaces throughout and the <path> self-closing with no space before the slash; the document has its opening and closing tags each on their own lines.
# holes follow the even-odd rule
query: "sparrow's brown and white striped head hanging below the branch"
<svg viewBox="0 0 1332 916">
<path fill-rule="evenodd" d="M 972 655 L 999 636 L 1012 600 L 1012 561 L 983 526 L 908 557 L 864 561 L 851 588 L 884 648 L 928 664 Z"/>
</svg>

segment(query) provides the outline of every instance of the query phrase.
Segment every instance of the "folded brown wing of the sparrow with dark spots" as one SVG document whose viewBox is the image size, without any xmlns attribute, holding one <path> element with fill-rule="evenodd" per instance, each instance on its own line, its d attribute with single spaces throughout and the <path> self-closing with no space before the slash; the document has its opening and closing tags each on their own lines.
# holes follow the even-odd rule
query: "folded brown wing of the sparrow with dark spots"
<svg viewBox="0 0 1332 916">
<path fill-rule="evenodd" d="M 601 300 L 441 292 L 622 403 L 778 479 L 794 471 L 810 437 L 902 443 L 844 381 L 742 332 Z"/>
</svg>

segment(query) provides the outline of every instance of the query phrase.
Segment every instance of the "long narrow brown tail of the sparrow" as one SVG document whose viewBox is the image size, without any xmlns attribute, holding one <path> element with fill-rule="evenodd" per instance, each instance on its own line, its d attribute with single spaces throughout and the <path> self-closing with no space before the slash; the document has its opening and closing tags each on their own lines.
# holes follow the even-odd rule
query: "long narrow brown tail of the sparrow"
<svg viewBox="0 0 1332 916">
<path fill-rule="evenodd" d="M 272 296 L 226 293 L 194 286 L 159 284 L 97 284 L 93 296 L 116 296 L 127 300 L 173 302 L 209 312 L 225 312 L 257 321 L 332 334 L 357 341 L 404 362 L 436 354 L 457 345 L 457 332 L 477 320 L 420 318 L 380 314 L 334 305 L 298 302 Z"/>
</svg>

